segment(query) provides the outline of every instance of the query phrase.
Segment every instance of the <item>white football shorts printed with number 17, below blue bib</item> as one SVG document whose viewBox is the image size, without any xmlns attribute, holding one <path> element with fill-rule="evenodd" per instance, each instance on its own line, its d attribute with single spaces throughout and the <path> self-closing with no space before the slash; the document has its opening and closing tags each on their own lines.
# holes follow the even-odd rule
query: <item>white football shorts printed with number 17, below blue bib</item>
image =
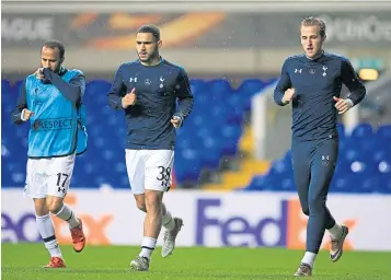
<svg viewBox="0 0 391 280">
<path fill-rule="evenodd" d="M 32 198 L 65 197 L 72 178 L 76 154 L 28 159 L 24 194 Z"/>
</svg>

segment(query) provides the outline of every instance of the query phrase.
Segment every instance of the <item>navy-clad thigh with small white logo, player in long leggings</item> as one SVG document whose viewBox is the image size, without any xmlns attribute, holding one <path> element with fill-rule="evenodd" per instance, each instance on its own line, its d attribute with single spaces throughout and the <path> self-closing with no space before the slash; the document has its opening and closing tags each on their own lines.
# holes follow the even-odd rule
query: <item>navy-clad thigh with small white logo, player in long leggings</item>
<svg viewBox="0 0 391 280">
<path fill-rule="evenodd" d="M 325 197 L 333 179 L 338 156 L 338 141 L 327 139 L 317 144 L 311 158 L 310 197 Z"/>
</svg>

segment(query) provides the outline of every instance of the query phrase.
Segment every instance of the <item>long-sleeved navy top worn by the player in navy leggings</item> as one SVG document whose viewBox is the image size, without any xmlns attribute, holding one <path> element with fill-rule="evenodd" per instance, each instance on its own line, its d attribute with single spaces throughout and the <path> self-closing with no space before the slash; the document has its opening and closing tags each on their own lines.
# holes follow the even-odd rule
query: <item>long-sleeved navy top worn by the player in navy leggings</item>
<svg viewBox="0 0 391 280">
<path fill-rule="evenodd" d="M 290 88 L 296 90 L 291 102 L 294 141 L 337 137 L 337 109 L 333 96 L 340 97 L 342 84 L 349 90 L 347 98 L 354 105 L 365 97 L 365 85 L 344 57 L 323 52 L 313 60 L 306 55 L 285 60 L 274 100 L 277 105 L 284 106 L 285 91 Z"/>
</svg>

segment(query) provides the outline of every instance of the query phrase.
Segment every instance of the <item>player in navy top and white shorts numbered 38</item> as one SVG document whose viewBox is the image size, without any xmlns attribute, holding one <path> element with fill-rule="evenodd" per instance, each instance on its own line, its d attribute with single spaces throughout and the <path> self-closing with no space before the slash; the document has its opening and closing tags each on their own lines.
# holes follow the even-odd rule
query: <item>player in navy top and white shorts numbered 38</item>
<svg viewBox="0 0 391 280">
<path fill-rule="evenodd" d="M 130 262 L 141 271 L 149 269 L 161 226 L 165 230 L 161 254 L 168 257 L 183 225 L 162 199 L 171 186 L 175 129 L 191 114 L 193 95 L 185 70 L 162 58 L 161 46 L 159 28 L 141 26 L 136 35 L 139 58 L 120 65 L 108 92 L 110 106 L 125 112 L 127 173 L 137 207 L 147 213 L 141 252 Z"/>
</svg>

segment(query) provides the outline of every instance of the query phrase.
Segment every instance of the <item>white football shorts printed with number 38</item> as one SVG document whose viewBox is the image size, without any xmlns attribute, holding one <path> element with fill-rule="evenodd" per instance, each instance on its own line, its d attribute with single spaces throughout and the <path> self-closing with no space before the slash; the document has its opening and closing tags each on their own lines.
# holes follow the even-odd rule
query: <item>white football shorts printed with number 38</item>
<svg viewBox="0 0 391 280">
<path fill-rule="evenodd" d="M 126 168 L 134 195 L 146 189 L 168 191 L 172 184 L 173 150 L 125 150 Z"/>
</svg>

